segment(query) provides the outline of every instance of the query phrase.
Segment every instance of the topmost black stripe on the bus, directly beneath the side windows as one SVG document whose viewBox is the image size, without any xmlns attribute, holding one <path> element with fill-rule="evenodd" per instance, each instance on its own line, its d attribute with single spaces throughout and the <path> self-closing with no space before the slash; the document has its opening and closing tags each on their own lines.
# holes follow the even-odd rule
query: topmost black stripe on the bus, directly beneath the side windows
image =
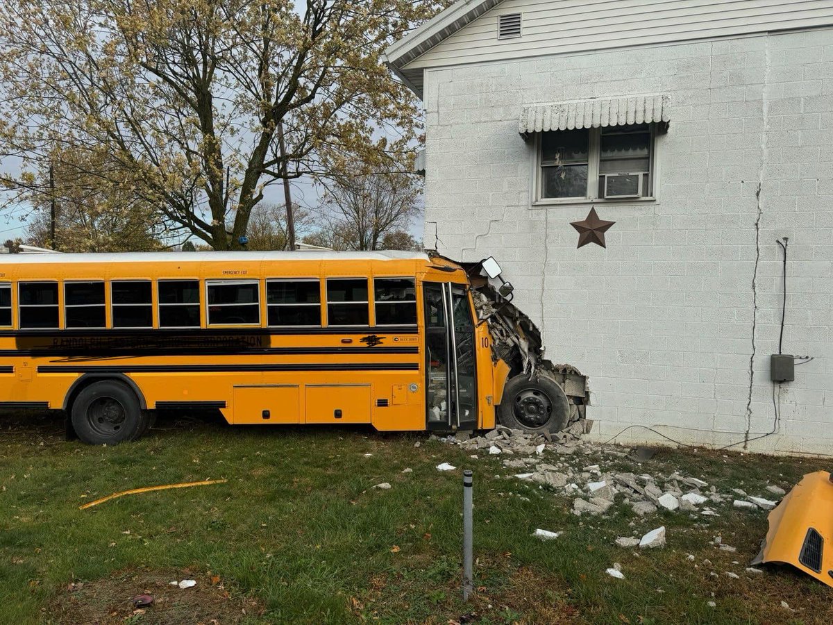
<svg viewBox="0 0 833 625">
<path fill-rule="evenodd" d="M 135 336 L 157 336 L 160 334 L 173 334 L 177 337 L 189 336 L 227 336 L 235 335 L 264 335 L 264 336 L 286 336 L 303 334 L 418 334 L 416 326 L 362 326 L 341 328 L 329 326 L 327 328 L 71 328 L 57 330 L 55 328 L 43 330 L 0 330 L 0 337 L 135 337 Z"/>
</svg>

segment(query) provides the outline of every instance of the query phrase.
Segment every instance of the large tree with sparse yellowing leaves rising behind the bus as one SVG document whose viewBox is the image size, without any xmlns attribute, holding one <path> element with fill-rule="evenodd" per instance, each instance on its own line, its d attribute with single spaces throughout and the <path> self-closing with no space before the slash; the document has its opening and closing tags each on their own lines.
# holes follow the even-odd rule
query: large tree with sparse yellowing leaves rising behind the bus
<svg viewBox="0 0 833 625">
<path fill-rule="evenodd" d="M 23 169 L 0 181 L 40 190 L 84 153 L 168 228 L 239 248 L 269 184 L 407 170 L 417 110 L 381 53 L 448 3 L 4 0 L 0 156 Z"/>
</svg>

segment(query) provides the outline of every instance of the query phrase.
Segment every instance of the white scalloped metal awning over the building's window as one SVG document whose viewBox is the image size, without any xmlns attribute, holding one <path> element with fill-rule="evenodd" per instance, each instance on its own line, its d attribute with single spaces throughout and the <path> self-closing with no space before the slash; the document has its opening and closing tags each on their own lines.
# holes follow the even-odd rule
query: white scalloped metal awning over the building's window
<svg viewBox="0 0 833 625">
<path fill-rule="evenodd" d="M 646 95 L 526 104 L 521 107 L 518 132 L 526 138 L 531 133 L 551 130 L 606 128 L 652 122 L 666 129 L 671 121 L 668 102 L 666 95 Z"/>
</svg>

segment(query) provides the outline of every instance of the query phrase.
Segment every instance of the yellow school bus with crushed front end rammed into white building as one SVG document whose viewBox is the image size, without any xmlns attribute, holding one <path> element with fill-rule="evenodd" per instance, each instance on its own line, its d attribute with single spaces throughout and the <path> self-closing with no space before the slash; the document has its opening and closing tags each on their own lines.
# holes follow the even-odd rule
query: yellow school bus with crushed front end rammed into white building
<svg viewBox="0 0 833 625">
<path fill-rule="evenodd" d="M 498 411 L 563 428 L 586 382 L 493 349 L 482 293 L 492 321 L 517 323 L 494 271 L 402 252 L 8 255 L 0 409 L 66 411 L 86 443 L 136 439 L 163 409 L 382 431 L 494 428 Z"/>
</svg>

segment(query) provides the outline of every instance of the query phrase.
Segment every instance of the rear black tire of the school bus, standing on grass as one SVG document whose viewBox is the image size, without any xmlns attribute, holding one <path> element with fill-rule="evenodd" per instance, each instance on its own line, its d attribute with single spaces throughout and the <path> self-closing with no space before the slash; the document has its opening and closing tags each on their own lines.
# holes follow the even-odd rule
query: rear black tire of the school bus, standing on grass
<svg viewBox="0 0 833 625">
<path fill-rule="evenodd" d="M 115 380 L 90 384 L 72 403 L 72 428 L 82 442 L 91 445 L 135 440 L 147 424 L 136 394 Z"/>
</svg>

